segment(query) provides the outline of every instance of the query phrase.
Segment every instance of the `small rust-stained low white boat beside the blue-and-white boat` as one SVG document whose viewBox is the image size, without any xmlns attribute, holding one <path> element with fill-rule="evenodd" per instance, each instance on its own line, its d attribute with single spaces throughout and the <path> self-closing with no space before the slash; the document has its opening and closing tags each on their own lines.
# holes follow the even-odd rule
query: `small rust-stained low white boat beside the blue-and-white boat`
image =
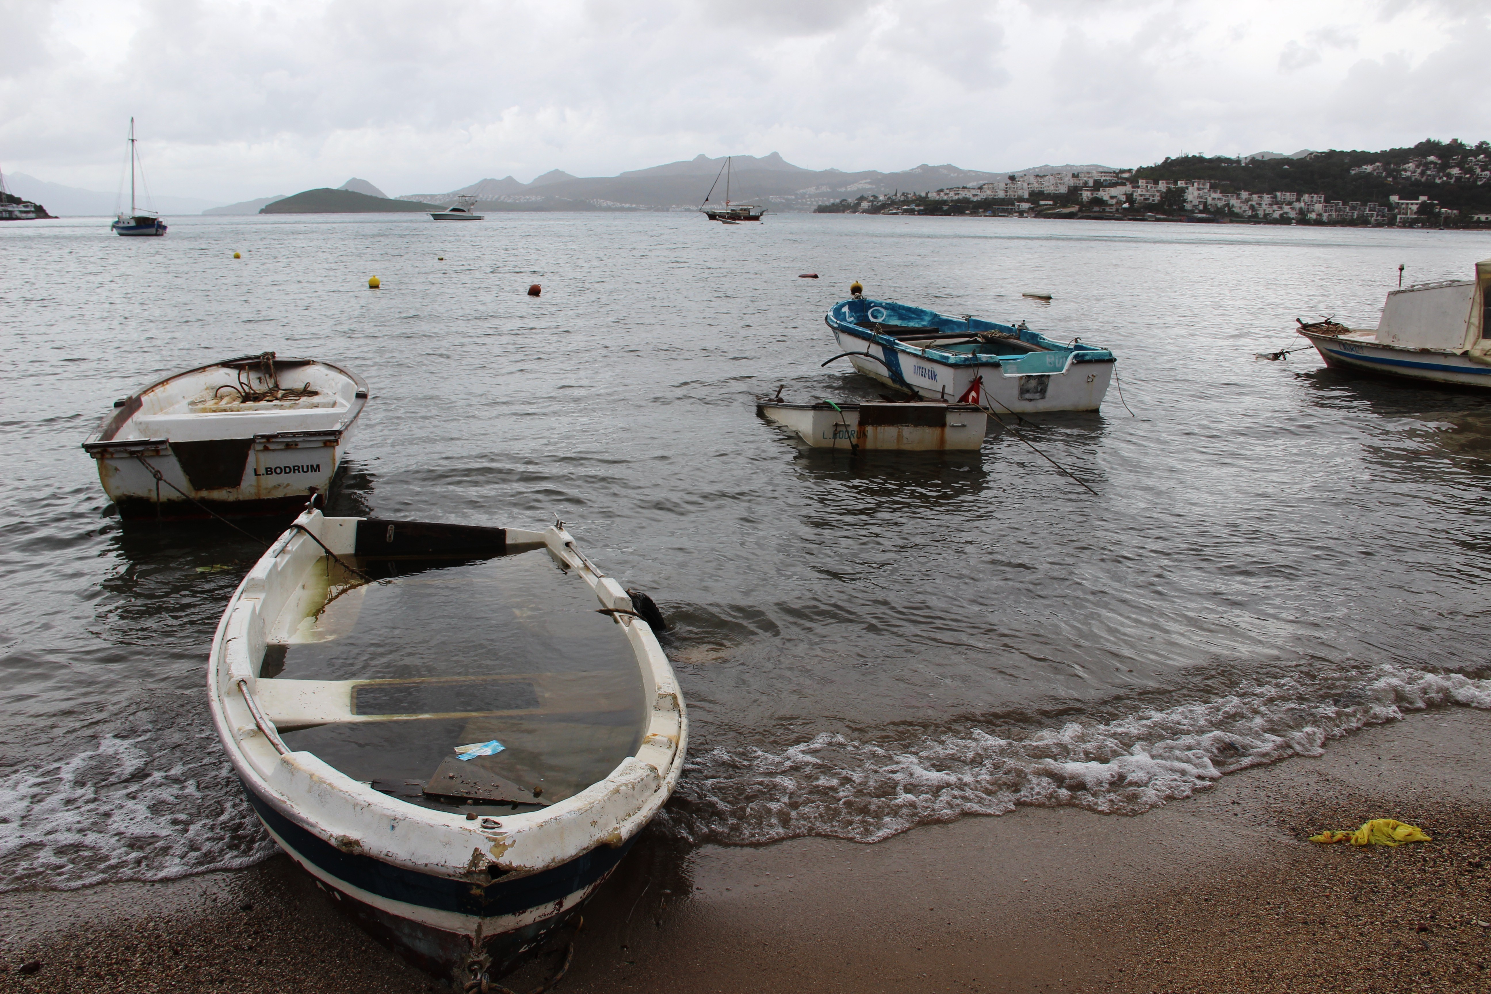
<svg viewBox="0 0 1491 994">
<path fill-rule="evenodd" d="M 989 416 L 975 404 L 759 401 L 756 413 L 814 449 L 838 452 L 972 452 Z"/>
</svg>

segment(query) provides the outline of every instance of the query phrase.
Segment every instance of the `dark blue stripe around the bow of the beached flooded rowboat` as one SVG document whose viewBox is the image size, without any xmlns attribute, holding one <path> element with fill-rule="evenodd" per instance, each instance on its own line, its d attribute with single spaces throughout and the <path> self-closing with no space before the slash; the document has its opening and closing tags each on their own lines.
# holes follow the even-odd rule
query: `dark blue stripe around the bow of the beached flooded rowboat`
<svg viewBox="0 0 1491 994">
<path fill-rule="evenodd" d="M 453 881 L 391 866 L 371 855 L 343 852 L 274 811 L 248 784 L 243 785 L 243 793 L 248 794 L 253 811 L 274 835 L 285 839 L 301 858 L 313 863 L 332 879 L 388 900 L 479 918 L 516 915 L 543 905 L 553 905 L 581 891 L 610 873 L 635 841 L 632 836 L 616 848 L 599 845 L 550 870 L 516 881 L 494 881 L 480 887 L 468 881 Z"/>
</svg>

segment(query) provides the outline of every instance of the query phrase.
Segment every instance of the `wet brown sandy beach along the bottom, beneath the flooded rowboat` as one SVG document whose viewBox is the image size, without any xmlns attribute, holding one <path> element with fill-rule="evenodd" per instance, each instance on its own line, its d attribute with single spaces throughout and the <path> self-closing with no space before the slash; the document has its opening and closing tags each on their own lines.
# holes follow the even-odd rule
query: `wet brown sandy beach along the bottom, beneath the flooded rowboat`
<svg viewBox="0 0 1491 994">
<path fill-rule="evenodd" d="M 1370 817 L 1434 841 L 1305 841 Z M 1023 808 L 877 845 L 690 854 L 650 836 L 584 918 L 571 994 L 1485 990 L 1491 714 L 1412 714 L 1141 817 Z M 0 922 L 7 990 L 443 990 L 283 857 L 12 893 Z"/>
</svg>

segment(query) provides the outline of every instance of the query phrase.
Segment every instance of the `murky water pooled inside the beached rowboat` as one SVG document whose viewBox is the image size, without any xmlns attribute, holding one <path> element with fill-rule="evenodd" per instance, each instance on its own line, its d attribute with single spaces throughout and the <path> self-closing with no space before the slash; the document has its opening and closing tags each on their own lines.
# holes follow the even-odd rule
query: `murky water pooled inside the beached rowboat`
<svg viewBox="0 0 1491 994">
<path fill-rule="evenodd" d="M 564 800 L 635 754 L 646 711 L 631 644 L 546 548 L 344 560 L 380 581 L 325 557 L 313 612 L 271 632 L 261 678 L 276 680 L 261 687 L 358 681 L 349 720 L 282 729 L 289 748 L 414 805 L 494 815 Z M 456 753 L 494 741 L 492 756 Z"/>
</svg>

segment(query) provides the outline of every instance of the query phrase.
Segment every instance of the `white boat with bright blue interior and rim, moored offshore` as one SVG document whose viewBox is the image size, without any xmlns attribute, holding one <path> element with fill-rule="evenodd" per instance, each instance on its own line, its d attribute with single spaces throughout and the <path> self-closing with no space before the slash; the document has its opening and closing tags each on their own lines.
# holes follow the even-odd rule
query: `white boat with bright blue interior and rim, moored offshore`
<svg viewBox="0 0 1491 994">
<path fill-rule="evenodd" d="M 1096 411 L 1114 371 L 1106 349 L 1079 338 L 1062 344 L 1023 322 L 948 317 L 865 298 L 839 301 L 825 322 L 842 349 L 833 358 L 847 358 L 857 373 L 929 401 L 978 396 L 996 414 Z M 975 382 L 980 390 L 971 395 Z"/>
</svg>

